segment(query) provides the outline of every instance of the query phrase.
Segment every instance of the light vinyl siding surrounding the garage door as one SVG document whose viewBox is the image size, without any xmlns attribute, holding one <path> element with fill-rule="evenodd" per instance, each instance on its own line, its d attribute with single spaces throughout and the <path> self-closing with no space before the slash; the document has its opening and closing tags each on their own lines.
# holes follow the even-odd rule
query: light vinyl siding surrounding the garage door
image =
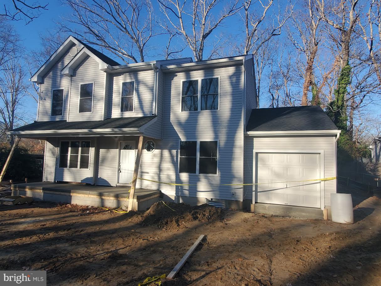
<svg viewBox="0 0 381 286">
<path fill-rule="evenodd" d="M 245 182 L 249 183 L 253 179 L 253 149 L 256 152 L 261 150 L 274 150 L 280 153 L 287 150 L 324 151 L 324 177 L 336 177 L 336 142 L 335 136 L 295 136 L 295 137 L 247 137 L 245 150 Z M 324 184 L 325 206 L 331 205 L 331 193 L 336 193 L 336 180 L 322 182 Z M 250 187 L 245 187 L 246 198 L 250 198 Z"/>
</svg>

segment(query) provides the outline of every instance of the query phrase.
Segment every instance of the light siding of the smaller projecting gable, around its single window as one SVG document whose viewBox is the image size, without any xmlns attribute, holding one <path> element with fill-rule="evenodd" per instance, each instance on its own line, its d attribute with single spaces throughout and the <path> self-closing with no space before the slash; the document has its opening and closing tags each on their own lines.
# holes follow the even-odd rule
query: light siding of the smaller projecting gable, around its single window
<svg viewBox="0 0 381 286">
<path fill-rule="evenodd" d="M 66 76 L 62 76 L 66 77 Z M 99 70 L 99 63 L 86 57 L 75 69 L 70 88 L 70 110 L 69 121 L 92 121 L 103 120 L 104 93 L 105 93 L 105 72 Z M 93 83 L 93 103 L 92 112 L 79 112 L 80 85 Z"/>
</svg>

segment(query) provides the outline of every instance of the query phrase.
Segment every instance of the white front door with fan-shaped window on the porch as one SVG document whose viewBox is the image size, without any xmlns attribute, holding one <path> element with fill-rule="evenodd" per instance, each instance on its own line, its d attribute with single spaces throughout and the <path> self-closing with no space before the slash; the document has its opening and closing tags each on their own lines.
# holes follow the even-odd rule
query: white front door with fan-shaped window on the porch
<svg viewBox="0 0 381 286">
<path fill-rule="evenodd" d="M 135 141 L 120 142 L 118 183 L 129 184 L 132 181 L 135 165 Z"/>
</svg>

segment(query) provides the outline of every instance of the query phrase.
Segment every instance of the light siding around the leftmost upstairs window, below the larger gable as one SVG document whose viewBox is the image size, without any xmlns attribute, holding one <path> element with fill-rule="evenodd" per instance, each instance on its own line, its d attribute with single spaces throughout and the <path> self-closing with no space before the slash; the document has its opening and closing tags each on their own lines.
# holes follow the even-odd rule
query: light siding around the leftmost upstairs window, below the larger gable
<svg viewBox="0 0 381 286">
<path fill-rule="evenodd" d="M 72 46 L 74 47 L 74 45 Z M 38 121 L 55 121 L 66 120 L 70 78 L 61 74 L 61 70 L 69 63 L 74 55 L 70 55 L 69 51 L 66 52 L 61 59 L 50 69 L 50 71 L 43 77 L 43 83 L 40 85 L 40 99 L 38 106 Z M 53 89 L 64 88 L 64 106 L 61 116 L 51 116 L 52 105 L 52 92 Z"/>
</svg>

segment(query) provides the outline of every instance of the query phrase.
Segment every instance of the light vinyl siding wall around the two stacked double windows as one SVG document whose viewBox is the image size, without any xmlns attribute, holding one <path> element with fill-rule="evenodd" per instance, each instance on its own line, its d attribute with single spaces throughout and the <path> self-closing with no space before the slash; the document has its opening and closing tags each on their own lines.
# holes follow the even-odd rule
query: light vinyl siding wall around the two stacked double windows
<svg viewBox="0 0 381 286">
<path fill-rule="evenodd" d="M 242 200 L 243 79 L 242 66 L 165 74 L 163 140 L 153 152 L 142 153 L 139 176 L 164 182 L 196 184 L 168 186 L 138 181 L 138 187 L 160 189 L 168 196 Z M 181 81 L 220 77 L 218 111 L 181 112 Z M 218 175 L 179 174 L 179 140 L 219 141 Z M 232 191 L 235 196 L 232 196 Z"/>
</svg>

